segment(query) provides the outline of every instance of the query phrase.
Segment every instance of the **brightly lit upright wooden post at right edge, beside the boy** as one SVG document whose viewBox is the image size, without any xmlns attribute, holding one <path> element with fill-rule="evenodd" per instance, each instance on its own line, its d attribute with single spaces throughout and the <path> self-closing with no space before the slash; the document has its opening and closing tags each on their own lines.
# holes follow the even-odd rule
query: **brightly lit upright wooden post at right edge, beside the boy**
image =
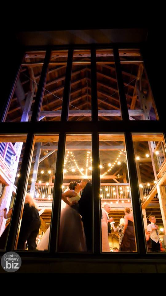
<svg viewBox="0 0 166 296">
<path fill-rule="evenodd" d="M 160 211 L 163 220 L 164 229 L 166 231 L 166 191 L 164 186 L 157 184 L 157 193 L 159 197 Z"/>
</svg>

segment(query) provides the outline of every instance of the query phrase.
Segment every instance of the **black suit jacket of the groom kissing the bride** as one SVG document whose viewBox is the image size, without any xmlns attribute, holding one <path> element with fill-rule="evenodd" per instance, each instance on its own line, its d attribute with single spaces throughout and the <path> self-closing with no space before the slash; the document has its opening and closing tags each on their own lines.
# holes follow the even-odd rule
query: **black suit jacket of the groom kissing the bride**
<svg viewBox="0 0 166 296">
<path fill-rule="evenodd" d="M 79 211 L 82 216 L 82 220 L 91 219 L 92 217 L 92 184 L 91 183 L 86 184 L 78 203 L 79 203 Z"/>
</svg>

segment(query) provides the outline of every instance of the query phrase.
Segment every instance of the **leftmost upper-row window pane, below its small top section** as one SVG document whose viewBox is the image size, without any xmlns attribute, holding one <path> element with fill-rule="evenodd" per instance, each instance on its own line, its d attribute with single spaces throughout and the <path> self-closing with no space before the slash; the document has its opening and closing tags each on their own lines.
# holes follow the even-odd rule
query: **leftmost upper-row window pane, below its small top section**
<svg viewBox="0 0 166 296">
<path fill-rule="evenodd" d="M 5 121 L 30 121 L 42 66 L 22 66 Z"/>
</svg>

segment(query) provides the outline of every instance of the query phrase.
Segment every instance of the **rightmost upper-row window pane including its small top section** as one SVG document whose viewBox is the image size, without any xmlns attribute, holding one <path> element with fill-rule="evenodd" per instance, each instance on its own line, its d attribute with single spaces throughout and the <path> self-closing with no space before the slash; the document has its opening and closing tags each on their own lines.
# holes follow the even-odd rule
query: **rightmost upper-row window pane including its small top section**
<svg viewBox="0 0 166 296">
<path fill-rule="evenodd" d="M 144 63 L 139 62 L 140 52 L 120 50 L 119 54 L 130 120 L 158 120 Z"/>
</svg>

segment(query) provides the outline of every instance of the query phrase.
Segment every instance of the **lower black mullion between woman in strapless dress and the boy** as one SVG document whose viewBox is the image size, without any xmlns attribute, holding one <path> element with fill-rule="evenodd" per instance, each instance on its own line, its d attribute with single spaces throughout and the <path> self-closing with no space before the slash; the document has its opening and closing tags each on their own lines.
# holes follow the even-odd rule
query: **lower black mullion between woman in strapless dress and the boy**
<svg viewBox="0 0 166 296">
<path fill-rule="evenodd" d="M 126 145 L 126 155 L 128 162 L 128 170 L 130 176 L 130 187 L 132 194 L 132 208 L 133 208 L 133 217 L 135 221 L 135 233 L 136 233 L 136 242 L 137 242 L 137 251 L 141 255 L 146 254 L 145 246 L 145 236 L 144 236 L 144 223 L 141 211 L 141 203 L 138 190 L 138 178 L 136 173 L 136 164 L 134 156 L 134 148 L 132 142 L 132 135 L 130 132 L 125 133 L 125 145 Z"/>
</svg>

